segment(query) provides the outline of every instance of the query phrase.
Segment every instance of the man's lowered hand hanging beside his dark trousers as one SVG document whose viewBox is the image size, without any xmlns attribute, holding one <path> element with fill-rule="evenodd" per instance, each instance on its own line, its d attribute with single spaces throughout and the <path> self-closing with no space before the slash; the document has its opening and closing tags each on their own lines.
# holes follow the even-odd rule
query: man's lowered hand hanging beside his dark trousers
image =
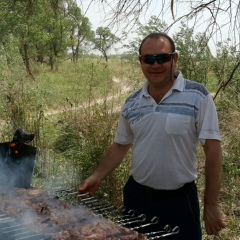
<svg viewBox="0 0 240 240">
<path fill-rule="evenodd" d="M 205 204 L 203 218 L 208 235 L 218 235 L 218 232 L 226 227 L 218 205 Z"/>
</svg>

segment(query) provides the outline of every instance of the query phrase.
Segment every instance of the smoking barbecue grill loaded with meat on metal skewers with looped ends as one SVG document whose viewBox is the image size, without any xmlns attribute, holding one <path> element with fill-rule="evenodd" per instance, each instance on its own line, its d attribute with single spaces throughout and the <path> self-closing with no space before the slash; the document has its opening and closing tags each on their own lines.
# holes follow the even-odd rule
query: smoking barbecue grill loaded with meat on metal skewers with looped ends
<svg viewBox="0 0 240 240">
<path fill-rule="evenodd" d="M 4 240 L 146 240 L 178 234 L 166 226 L 145 235 L 138 232 L 157 223 L 155 217 L 122 215 L 123 207 L 98 200 L 74 189 L 54 193 L 40 189 L 0 188 L 0 239 Z M 131 223 L 138 226 L 131 226 Z"/>
</svg>

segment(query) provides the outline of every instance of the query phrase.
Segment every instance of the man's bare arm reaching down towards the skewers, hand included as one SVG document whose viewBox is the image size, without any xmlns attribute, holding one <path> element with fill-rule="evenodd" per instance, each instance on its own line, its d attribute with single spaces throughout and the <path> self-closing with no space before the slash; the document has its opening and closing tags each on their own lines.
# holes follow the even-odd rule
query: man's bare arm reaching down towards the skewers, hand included
<svg viewBox="0 0 240 240">
<path fill-rule="evenodd" d="M 122 145 L 113 142 L 92 175 L 84 180 L 79 191 L 82 193 L 89 192 L 94 194 L 99 188 L 102 180 L 120 165 L 130 147 L 131 144 Z"/>
</svg>

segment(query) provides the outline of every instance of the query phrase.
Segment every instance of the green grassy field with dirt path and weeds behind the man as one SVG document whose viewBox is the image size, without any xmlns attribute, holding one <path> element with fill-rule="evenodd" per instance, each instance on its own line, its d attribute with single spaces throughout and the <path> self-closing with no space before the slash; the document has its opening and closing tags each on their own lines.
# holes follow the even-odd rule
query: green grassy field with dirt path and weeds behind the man
<svg viewBox="0 0 240 240">
<path fill-rule="evenodd" d="M 58 71 L 46 65 L 33 66 L 35 80 L 23 67 L 1 64 L 1 140 L 11 139 L 16 127 L 35 133 L 38 148 L 33 186 L 78 187 L 90 174 L 112 142 L 119 111 L 127 95 L 143 82 L 137 63 L 110 59 L 62 62 Z M 208 86 L 217 88 L 211 74 Z M 240 114 L 225 95 L 216 99 L 224 153 L 220 205 L 228 222 L 219 238 L 240 239 Z M 122 203 L 122 186 L 128 177 L 130 154 L 121 167 L 104 181 L 99 196 Z M 198 153 L 198 188 L 203 198 L 204 154 Z M 214 239 L 204 235 L 204 239 Z"/>
</svg>

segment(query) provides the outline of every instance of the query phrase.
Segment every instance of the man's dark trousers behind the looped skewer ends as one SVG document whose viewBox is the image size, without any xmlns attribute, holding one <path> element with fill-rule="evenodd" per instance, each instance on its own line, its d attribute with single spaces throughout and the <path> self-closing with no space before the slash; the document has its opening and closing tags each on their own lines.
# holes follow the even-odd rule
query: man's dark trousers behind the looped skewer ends
<svg viewBox="0 0 240 240">
<path fill-rule="evenodd" d="M 146 214 L 148 223 L 155 216 L 158 217 L 156 225 L 138 229 L 141 233 L 161 231 L 170 225 L 172 229 L 178 226 L 180 232 L 167 237 L 168 240 L 202 239 L 199 201 L 194 182 L 177 190 L 153 190 L 137 183 L 131 176 L 124 187 L 124 205 L 124 214 L 129 210 L 134 210 L 135 216 Z M 127 227 L 139 225 L 141 223 Z"/>
</svg>

